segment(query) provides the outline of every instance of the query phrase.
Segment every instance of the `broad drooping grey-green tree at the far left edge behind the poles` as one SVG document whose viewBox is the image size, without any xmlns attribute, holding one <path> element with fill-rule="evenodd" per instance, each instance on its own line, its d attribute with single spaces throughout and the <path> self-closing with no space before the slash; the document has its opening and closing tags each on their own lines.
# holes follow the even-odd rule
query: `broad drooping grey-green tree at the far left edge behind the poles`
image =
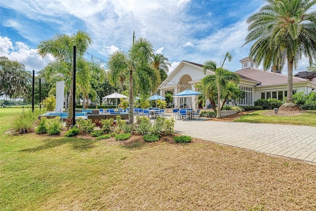
<svg viewBox="0 0 316 211">
<path fill-rule="evenodd" d="M 17 61 L 10 61 L 7 57 L 0 57 L 0 96 L 10 98 L 24 96 L 28 93 L 28 84 L 32 76 L 25 71 L 25 66 Z"/>
</svg>

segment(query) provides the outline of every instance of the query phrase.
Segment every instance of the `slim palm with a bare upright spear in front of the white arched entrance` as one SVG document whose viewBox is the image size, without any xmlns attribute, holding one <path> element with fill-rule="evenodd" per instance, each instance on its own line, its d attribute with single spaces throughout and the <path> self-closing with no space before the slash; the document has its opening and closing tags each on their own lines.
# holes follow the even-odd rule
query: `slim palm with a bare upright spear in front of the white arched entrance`
<svg viewBox="0 0 316 211">
<path fill-rule="evenodd" d="M 229 82 L 234 82 L 235 84 L 238 84 L 240 82 L 240 78 L 236 73 L 230 72 L 229 70 L 223 68 L 223 65 L 225 63 L 225 60 L 228 59 L 229 61 L 232 61 L 232 54 L 229 52 L 226 53 L 223 63 L 220 67 L 217 67 L 217 64 L 215 61 L 207 60 L 203 64 L 203 72 L 206 73 L 206 70 L 211 70 L 215 72 L 214 82 L 217 86 L 217 115 L 216 118 L 220 119 L 221 116 L 221 89 L 223 90 L 223 93 L 225 93 L 225 87 Z M 210 78 L 210 77 L 209 77 Z M 209 86 L 209 88 L 214 87 L 214 84 L 212 86 Z M 226 91 L 227 92 L 227 91 Z M 227 95 L 227 94 L 226 94 Z"/>
</svg>

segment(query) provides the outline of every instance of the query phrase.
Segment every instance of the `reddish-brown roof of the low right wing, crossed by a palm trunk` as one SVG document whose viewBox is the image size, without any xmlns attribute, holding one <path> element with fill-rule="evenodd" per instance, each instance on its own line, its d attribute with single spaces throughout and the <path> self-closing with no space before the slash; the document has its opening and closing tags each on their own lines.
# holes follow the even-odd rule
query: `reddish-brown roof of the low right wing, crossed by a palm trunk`
<svg viewBox="0 0 316 211">
<path fill-rule="evenodd" d="M 287 75 L 263 71 L 255 68 L 246 68 L 236 71 L 239 75 L 261 82 L 261 85 L 287 84 Z M 293 83 L 310 82 L 308 79 L 302 79 L 293 76 Z"/>
</svg>

